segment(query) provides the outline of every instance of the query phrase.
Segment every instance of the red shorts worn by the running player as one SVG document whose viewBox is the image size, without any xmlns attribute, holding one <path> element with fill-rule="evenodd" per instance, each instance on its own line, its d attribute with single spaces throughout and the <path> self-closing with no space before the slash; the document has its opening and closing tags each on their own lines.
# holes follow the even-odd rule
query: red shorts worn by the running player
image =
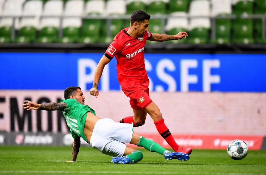
<svg viewBox="0 0 266 175">
<path fill-rule="evenodd" d="M 150 99 L 149 79 L 147 81 L 134 85 L 128 88 L 123 88 L 122 91 L 130 98 L 129 103 L 132 109 L 145 109 L 153 101 Z"/>
</svg>

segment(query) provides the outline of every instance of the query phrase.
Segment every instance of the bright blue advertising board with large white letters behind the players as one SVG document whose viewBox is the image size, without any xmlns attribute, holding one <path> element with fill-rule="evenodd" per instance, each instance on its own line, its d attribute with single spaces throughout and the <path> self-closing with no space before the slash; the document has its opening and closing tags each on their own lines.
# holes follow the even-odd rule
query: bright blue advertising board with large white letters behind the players
<svg viewBox="0 0 266 175">
<path fill-rule="evenodd" d="M 77 53 L 0 53 L 0 89 L 90 90 L 103 56 Z M 145 54 L 153 91 L 266 92 L 265 54 Z M 99 90 L 120 90 L 116 59 L 106 65 Z"/>
</svg>

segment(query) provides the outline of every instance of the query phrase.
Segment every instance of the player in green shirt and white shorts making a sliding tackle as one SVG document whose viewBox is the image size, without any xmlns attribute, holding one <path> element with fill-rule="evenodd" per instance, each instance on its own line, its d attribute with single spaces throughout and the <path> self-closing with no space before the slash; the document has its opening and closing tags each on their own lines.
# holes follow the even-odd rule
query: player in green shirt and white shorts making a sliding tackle
<svg viewBox="0 0 266 175">
<path fill-rule="evenodd" d="M 162 148 L 158 143 L 146 139 L 133 132 L 133 124 L 117 123 L 111 119 L 100 119 L 90 106 L 84 105 L 85 96 L 80 87 L 68 87 L 64 91 L 65 100 L 59 103 L 38 104 L 24 101 L 24 109 L 60 110 L 63 111 L 67 125 L 70 128 L 74 144 L 72 149 L 72 161 L 75 162 L 80 148 L 80 137 L 90 143 L 94 149 L 100 150 L 106 155 L 114 156 L 113 163 L 137 163 L 142 160 L 142 152 L 127 146 L 131 143 L 145 149 L 156 152 L 169 159 L 186 161 L 189 155 L 180 152 L 170 152 Z"/>
</svg>

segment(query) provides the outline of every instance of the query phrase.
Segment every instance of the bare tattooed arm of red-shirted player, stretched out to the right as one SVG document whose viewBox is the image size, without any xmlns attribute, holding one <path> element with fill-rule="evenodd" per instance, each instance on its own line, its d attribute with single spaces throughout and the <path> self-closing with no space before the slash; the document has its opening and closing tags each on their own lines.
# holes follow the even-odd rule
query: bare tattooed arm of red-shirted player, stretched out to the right
<svg viewBox="0 0 266 175">
<path fill-rule="evenodd" d="M 186 32 L 179 32 L 176 35 L 166 35 L 166 34 L 160 34 L 160 33 L 152 33 L 152 37 L 150 39 L 150 41 L 168 41 L 168 40 L 178 40 L 178 39 L 182 39 L 183 37 L 186 39 L 187 37 L 187 33 Z"/>
</svg>

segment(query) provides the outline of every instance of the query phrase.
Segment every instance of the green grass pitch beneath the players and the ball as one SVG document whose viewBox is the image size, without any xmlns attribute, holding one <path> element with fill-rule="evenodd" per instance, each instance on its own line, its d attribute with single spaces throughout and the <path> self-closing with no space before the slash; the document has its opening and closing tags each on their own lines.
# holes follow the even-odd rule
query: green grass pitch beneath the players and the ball
<svg viewBox="0 0 266 175">
<path fill-rule="evenodd" d="M 246 158 L 235 161 L 226 150 L 193 150 L 183 162 L 141 151 L 144 157 L 138 163 L 113 164 L 110 156 L 81 147 L 77 162 L 66 163 L 71 160 L 72 147 L 0 146 L 0 174 L 266 174 L 266 151 L 250 150 Z"/>
</svg>

